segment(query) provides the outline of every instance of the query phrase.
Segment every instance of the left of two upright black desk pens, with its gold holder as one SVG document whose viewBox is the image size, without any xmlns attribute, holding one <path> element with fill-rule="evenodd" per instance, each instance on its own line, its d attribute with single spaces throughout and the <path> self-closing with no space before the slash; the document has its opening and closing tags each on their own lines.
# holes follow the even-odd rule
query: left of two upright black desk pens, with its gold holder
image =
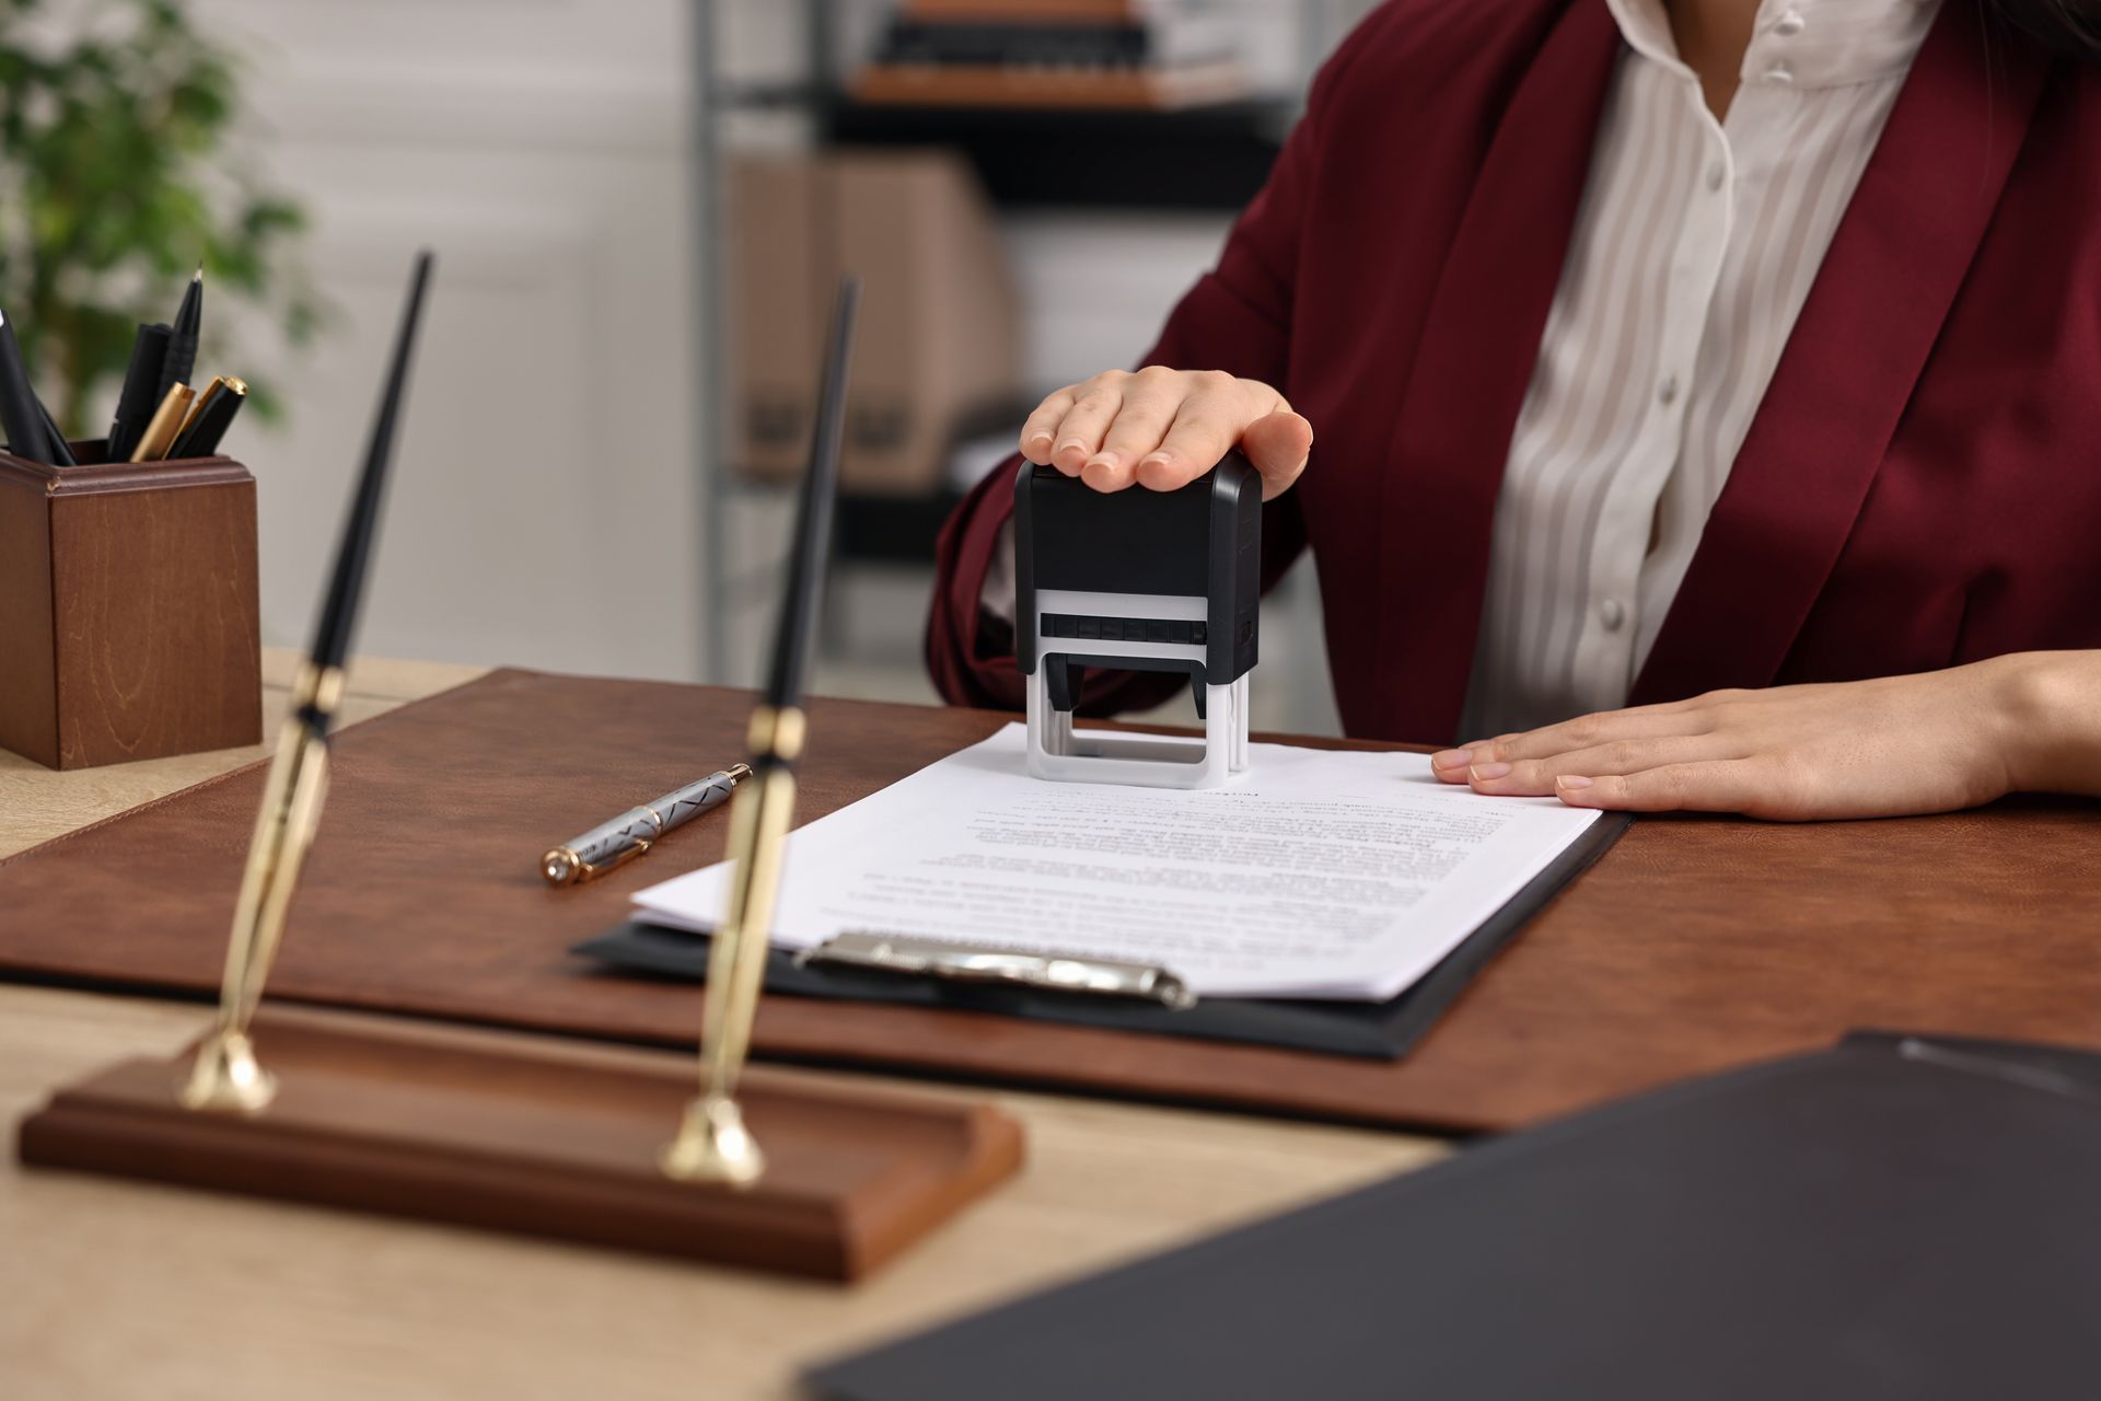
<svg viewBox="0 0 2101 1401">
<path fill-rule="evenodd" d="M 342 540 L 336 544 L 336 567 L 330 573 L 321 615 L 313 626 L 313 647 L 292 683 L 292 714 L 277 731 L 277 752 L 263 788 L 263 811 L 256 813 L 248 867 L 242 872 L 242 893 L 233 905 L 233 939 L 227 945 L 219 1021 L 197 1048 L 197 1063 L 183 1088 L 183 1105 L 189 1109 L 261 1113 L 275 1092 L 269 1073 L 256 1063 L 248 1023 L 263 998 L 263 983 L 284 939 L 286 909 L 298 886 L 298 867 L 321 817 L 321 794 L 328 788 L 328 731 L 342 699 L 342 662 L 351 651 L 366 565 L 372 559 L 372 540 L 378 536 L 387 464 L 393 458 L 395 424 L 401 418 L 410 351 L 416 344 L 416 321 L 422 315 L 429 279 L 431 254 L 424 252 L 416 256 L 416 275 L 401 311 L 380 407 L 372 420 L 366 464 L 342 523 Z"/>
</svg>

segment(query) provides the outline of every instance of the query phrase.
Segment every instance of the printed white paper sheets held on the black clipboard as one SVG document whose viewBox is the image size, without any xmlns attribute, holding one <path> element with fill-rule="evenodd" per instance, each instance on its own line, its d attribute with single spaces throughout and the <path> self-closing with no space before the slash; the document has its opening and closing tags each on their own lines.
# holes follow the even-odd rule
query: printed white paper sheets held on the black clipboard
<svg viewBox="0 0 2101 1401">
<path fill-rule="evenodd" d="M 788 838 L 773 941 L 918 935 L 1164 964 L 1204 996 L 1387 1000 L 1597 819 L 1420 754 L 1250 746 L 1227 788 L 1050 783 L 1008 725 Z M 727 863 L 641 891 L 712 928 Z"/>
</svg>

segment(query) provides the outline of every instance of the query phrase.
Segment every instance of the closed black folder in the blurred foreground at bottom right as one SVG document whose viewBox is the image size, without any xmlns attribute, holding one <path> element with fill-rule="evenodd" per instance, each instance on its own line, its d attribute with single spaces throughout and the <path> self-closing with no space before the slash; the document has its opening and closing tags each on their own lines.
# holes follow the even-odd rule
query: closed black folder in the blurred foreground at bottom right
<svg viewBox="0 0 2101 1401">
<path fill-rule="evenodd" d="M 832 1401 L 2086 1401 L 2097 1319 L 2101 1057 L 1853 1036 L 809 1380 Z"/>
</svg>

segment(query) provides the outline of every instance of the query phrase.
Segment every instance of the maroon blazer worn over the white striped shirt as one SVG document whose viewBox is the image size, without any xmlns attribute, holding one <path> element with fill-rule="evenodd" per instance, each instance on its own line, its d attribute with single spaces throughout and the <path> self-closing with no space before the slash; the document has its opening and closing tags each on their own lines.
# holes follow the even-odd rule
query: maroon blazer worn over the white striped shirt
<svg viewBox="0 0 2101 1401">
<path fill-rule="evenodd" d="M 1145 361 L 1313 422 L 1265 546 L 1273 573 L 1313 548 L 1351 735 L 1466 737 L 1496 492 L 1620 48 L 1603 0 L 1374 11 Z M 954 704 L 1021 699 L 979 618 L 1011 479 L 941 534 Z M 2101 647 L 2101 65 L 1946 0 L 1632 699 L 2038 647 Z M 1086 708 L 1158 687 L 1103 676 Z"/>
</svg>

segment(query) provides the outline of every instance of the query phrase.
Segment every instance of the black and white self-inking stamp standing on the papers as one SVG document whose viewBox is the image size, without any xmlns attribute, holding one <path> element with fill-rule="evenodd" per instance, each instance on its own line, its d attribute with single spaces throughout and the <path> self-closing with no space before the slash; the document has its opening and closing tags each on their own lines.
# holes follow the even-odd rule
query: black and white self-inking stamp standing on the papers
<svg viewBox="0 0 2101 1401">
<path fill-rule="evenodd" d="M 1248 767 L 1263 599 L 1263 479 L 1237 452 L 1174 492 L 1015 477 L 1015 657 L 1029 773 L 1212 788 Z M 1086 668 L 1187 672 L 1204 741 L 1072 727 Z"/>
</svg>

